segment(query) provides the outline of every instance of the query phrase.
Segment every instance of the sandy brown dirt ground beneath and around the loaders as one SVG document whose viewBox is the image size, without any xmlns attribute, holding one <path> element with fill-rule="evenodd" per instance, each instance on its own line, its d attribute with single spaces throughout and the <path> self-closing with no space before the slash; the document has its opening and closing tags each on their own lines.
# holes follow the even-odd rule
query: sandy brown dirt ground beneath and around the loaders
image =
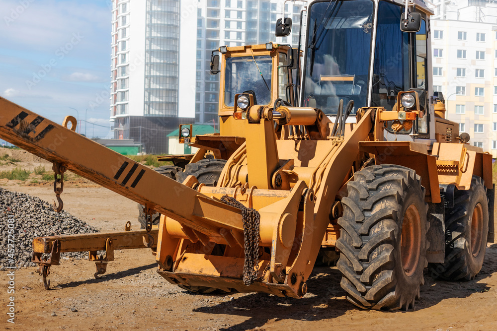
<svg viewBox="0 0 497 331">
<path fill-rule="evenodd" d="M 28 161 L 24 161 L 28 162 Z M 21 162 L 21 163 L 24 163 Z M 46 201 L 49 185 L 0 186 Z M 136 203 L 100 187 L 68 185 L 64 209 L 101 231 L 138 228 Z M 148 250 L 116 251 L 107 274 L 93 263 L 62 260 L 46 291 L 35 267 L 15 271 L 15 324 L 7 323 L 7 273 L 0 272 L 0 328 L 5 330 L 497 330 L 497 244 L 489 244 L 474 281 L 435 281 L 425 274 L 409 312 L 357 309 L 345 300 L 334 267 L 315 268 L 303 299 L 266 294 L 190 294 L 156 272 Z"/>
</svg>

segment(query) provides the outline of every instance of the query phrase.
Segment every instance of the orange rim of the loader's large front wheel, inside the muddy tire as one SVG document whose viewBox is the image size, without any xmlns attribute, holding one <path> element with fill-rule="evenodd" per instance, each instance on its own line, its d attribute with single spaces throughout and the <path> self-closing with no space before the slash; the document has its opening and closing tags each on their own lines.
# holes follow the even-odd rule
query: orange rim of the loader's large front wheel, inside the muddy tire
<svg viewBox="0 0 497 331">
<path fill-rule="evenodd" d="M 416 271 L 421 255 L 421 220 L 414 204 L 407 208 L 402 222 L 401 260 L 402 268 L 408 276 Z"/>
</svg>

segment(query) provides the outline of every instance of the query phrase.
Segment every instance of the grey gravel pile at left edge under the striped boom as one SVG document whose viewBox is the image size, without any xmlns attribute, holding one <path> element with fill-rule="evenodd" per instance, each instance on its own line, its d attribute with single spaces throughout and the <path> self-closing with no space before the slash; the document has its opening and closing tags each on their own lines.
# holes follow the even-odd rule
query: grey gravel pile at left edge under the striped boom
<svg viewBox="0 0 497 331">
<path fill-rule="evenodd" d="M 9 224 L 13 224 L 14 242 L 8 236 L 12 228 Z M 31 262 L 33 238 L 93 232 L 98 231 L 64 210 L 54 211 L 52 205 L 39 198 L 0 188 L 0 270 L 5 266 L 36 266 Z M 12 244 L 13 259 L 8 256 Z M 81 259 L 87 255 L 88 252 L 62 253 L 61 259 Z"/>
</svg>

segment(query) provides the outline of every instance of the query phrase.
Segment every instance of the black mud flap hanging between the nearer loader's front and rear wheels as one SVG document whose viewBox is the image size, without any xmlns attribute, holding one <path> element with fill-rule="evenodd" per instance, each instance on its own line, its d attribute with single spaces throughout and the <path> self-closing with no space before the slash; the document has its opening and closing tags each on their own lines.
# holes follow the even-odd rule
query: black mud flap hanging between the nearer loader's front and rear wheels
<svg viewBox="0 0 497 331">
<path fill-rule="evenodd" d="M 440 203 L 428 203 L 427 220 L 430 224 L 426 237 L 430 246 L 426 250 L 426 260 L 429 263 L 443 263 L 445 259 L 445 202 L 440 197 Z"/>
</svg>

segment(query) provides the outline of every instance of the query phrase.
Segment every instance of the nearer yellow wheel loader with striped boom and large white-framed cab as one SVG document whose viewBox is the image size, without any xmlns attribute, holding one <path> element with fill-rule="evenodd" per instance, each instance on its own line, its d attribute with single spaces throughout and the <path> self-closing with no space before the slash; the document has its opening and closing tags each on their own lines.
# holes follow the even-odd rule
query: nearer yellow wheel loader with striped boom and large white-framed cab
<svg viewBox="0 0 497 331">
<path fill-rule="evenodd" d="M 215 186 L 194 174 L 177 182 L 77 134 L 72 117 L 60 126 L 0 99 L 0 137 L 54 162 L 57 209 L 69 169 L 161 214 L 144 230 L 36 238 L 46 287 L 61 252 L 90 252 L 98 275 L 115 249 L 138 247 L 188 289 L 293 298 L 326 250 L 347 299 L 366 309 L 412 307 L 426 267 L 473 279 L 494 241 L 492 155 L 444 119 L 431 14 L 418 0 L 309 1 L 299 106 L 260 104 L 263 92 L 241 87 L 220 110 L 231 133 L 217 145 L 196 137 L 226 160 Z"/>
</svg>

